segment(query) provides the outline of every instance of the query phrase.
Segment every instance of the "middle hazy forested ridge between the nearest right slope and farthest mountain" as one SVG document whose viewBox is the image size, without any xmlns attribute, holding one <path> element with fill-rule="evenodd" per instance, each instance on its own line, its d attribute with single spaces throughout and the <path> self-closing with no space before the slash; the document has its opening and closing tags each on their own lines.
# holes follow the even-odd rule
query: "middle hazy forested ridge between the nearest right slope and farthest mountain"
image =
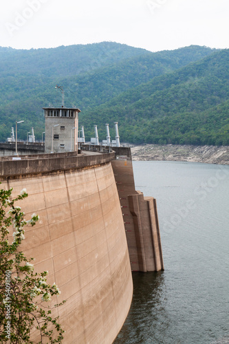
<svg viewBox="0 0 229 344">
<path fill-rule="evenodd" d="M 127 89 L 147 83 L 155 76 L 172 72 L 211 53 L 209 48 L 197 46 L 154 54 L 146 52 L 91 73 L 63 79 L 61 83 L 67 84 L 67 100 L 70 101 L 73 94 L 76 94 L 78 106 L 85 110 L 87 107 L 103 104 Z"/>
</svg>

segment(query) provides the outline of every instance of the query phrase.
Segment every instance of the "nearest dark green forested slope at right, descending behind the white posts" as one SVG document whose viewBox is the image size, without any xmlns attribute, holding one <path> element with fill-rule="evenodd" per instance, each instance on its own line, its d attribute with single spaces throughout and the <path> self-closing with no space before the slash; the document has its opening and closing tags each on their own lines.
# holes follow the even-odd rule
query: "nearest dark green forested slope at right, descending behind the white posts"
<svg viewBox="0 0 229 344">
<path fill-rule="evenodd" d="M 229 50 L 214 52 L 86 111 L 83 124 L 118 117 L 122 140 L 228 145 L 228 74 Z"/>
</svg>

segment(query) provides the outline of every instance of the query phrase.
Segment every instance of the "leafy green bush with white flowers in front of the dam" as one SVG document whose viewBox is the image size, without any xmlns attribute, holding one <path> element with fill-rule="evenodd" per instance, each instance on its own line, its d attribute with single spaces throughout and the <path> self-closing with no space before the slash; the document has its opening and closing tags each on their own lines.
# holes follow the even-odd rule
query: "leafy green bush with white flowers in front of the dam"
<svg viewBox="0 0 229 344">
<path fill-rule="evenodd" d="M 25 213 L 15 202 L 28 197 L 26 189 L 14 199 L 11 193 L 12 189 L 0 189 L 0 341 L 33 343 L 30 338 L 34 334 L 40 336 L 39 343 L 62 343 L 64 331 L 58 316 L 52 317 L 49 303 L 45 307 L 52 296 L 61 292 L 56 283 L 47 283 L 47 271 L 34 273 L 33 258 L 25 257 L 20 250 L 25 227 L 35 226 L 39 215 L 25 220 Z"/>
</svg>

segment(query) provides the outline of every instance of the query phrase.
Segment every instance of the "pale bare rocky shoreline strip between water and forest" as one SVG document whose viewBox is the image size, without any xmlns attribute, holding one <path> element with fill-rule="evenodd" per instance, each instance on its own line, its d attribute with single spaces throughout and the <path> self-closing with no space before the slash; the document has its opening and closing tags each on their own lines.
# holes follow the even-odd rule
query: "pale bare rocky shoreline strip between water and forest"
<svg viewBox="0 0 229 344">
<path fill-rule="evenodd" d="M 192 146 L 188 144 L 143 144 L 131 147 L 132 160 L 168 160 L 229 164 L 228 146 Z"/>
</svg>

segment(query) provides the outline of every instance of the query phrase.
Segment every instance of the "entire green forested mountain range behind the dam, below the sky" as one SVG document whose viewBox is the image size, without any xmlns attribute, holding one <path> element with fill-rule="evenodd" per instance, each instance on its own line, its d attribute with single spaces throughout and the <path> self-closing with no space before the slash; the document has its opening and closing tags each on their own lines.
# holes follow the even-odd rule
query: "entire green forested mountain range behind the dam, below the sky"
<svg viewBox="0 0 229 344">
<path fill-rule="evenodd" d="M 228 50 L 190 46 L 147 52 L 118 43 L 39 50 L 0 48 L 0 140 L 44 131 L 42 107 L 81 109 L 87 138 L 119 122 L 122 141 L 229 144 Z M 112 129 L 111 129 L 112 134 Z"/>
</svg>

